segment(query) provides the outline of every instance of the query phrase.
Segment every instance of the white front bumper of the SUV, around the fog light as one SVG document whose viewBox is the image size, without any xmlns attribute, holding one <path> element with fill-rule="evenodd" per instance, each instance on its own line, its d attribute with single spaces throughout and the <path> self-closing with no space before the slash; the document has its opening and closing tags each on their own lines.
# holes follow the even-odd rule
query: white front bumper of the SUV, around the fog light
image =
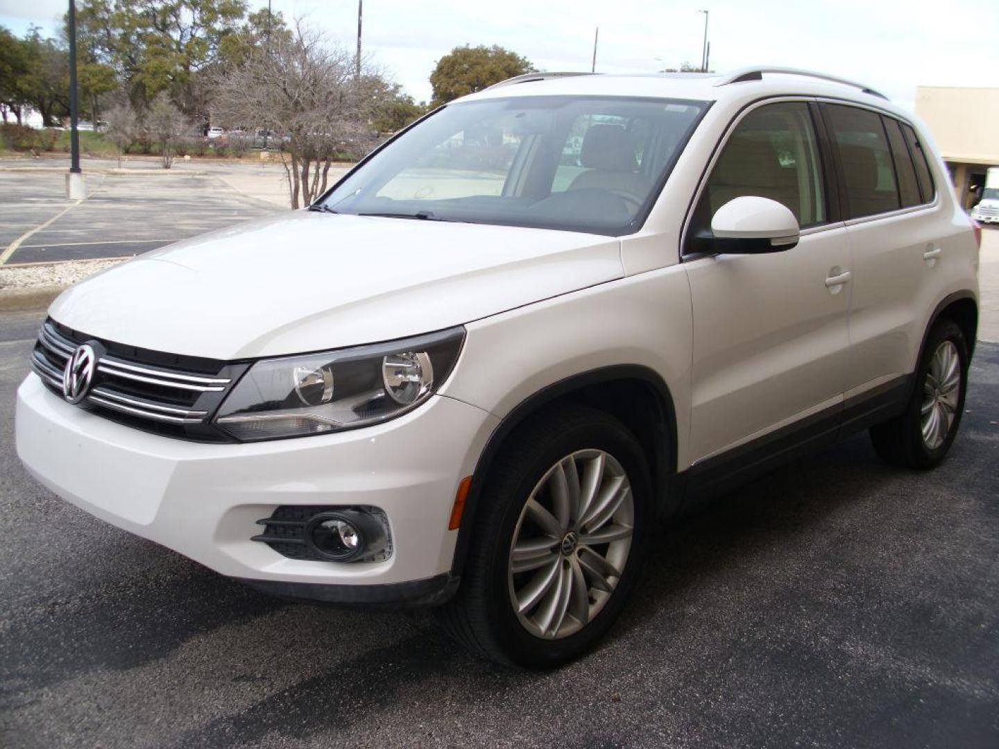
<svg viewBox="0 0 999 749">
<path fill-rule="evenodd" d="M 150 434 L 70 405 L 37 375 L 18 389 L 16 418 L 17 452 L 31 473 L 91 514 L 274 592 L 357 603 L 435 602 L 447 594 L 458 537 L 448 530 L 455 492 L 498 422 L 435 395 L 366 428 L 209 444 Z M 381 507 L 392 556 L 291 559 L 250 540 L 261 531 L 256 521 L 282 504 Z"/>
</svg>

